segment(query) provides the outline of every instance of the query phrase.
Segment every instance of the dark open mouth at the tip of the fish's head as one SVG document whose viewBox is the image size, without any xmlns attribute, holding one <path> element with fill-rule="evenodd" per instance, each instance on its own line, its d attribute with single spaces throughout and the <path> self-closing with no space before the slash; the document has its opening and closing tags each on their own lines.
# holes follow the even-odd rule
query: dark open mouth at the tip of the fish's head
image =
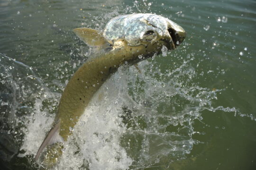
<svg viewBox="0 0 256 170">
<path fill-rule="evenodd" d="M 168 28 L 168 33 L 169 35 L 167 35 L 167 37 L 164 39 L 164 41 L 168 44 L 168 50 L 176 49 L 186 37 L 186 32 L 184 30 L 176 31 L 173 28 Z"/>
</svg>

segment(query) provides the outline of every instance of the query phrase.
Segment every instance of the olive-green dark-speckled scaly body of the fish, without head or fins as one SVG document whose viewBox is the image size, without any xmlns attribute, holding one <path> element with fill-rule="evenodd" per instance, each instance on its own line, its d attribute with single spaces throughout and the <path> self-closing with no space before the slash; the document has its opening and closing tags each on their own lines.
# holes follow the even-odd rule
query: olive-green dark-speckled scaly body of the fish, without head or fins
<svg viewBox="0 0 256 170">
<path fill-rule="evenodd" d="M 141 55 L 144 59 L 152 57 L 161 48 L 153 45 L 144 45 L 129 48 L 125 41 L 123 48 L 116 49 L 103 57 L 92 59 L 82 65 L 70 79 L 62 95 L 55 121 L 60 120 L 60 136 L 67 139 L 71 134 L 70 127 L 74 127 L 85 107 L 91 101 L 94 93 L 125 62 L 136 63 Z M 159 45 L 167 45 L 166 42 L 158 42 Z M 145 52 L 147 51 L 147 54 Z"/>
</svg>

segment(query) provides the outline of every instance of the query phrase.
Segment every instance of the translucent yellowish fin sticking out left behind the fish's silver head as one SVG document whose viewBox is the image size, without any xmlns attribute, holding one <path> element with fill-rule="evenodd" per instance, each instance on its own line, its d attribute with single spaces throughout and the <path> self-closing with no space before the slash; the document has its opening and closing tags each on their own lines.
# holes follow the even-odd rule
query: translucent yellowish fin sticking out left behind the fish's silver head
<svg viewBox="0 0 256 170">
<path fill-rule="evenodd" d="M 91 28 L 75 28 L 73 32 L 89 46 L 102 46 L 107 43 L 98 30 Z"/>
</svg>

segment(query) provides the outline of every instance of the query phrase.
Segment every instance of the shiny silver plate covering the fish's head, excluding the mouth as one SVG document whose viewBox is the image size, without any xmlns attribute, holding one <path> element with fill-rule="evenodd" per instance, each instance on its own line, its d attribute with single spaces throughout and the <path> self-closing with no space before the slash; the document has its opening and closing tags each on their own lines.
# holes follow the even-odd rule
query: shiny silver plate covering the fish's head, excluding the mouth
<svg viewBox="0 0 256 170">
<path fill-rule="evenodd" d="M 160 36 L 169 34 L 168 26 L 174 23 L 169 19 L 155 14 L 130 14 L 111 19 L 103 32 L 110 43 L 124 38 L 129 45 L 139 45 L 146 31 L 153 30 Z"/>
</svg>

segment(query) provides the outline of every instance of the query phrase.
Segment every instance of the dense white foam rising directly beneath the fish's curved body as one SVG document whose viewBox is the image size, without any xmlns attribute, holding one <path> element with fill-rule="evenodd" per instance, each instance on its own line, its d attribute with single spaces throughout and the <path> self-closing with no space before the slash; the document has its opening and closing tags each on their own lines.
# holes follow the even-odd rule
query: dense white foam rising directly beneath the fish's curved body
<svg viewBox="0 0 256 170">
<path fill-rule="evenodd" d="M 131 165 L 119 144 L 126 128 L 119 117 L 122 99 L 113 78 L 101 87 L 74 127 L 58 169 L 127 170 Z"/>
</svg>

